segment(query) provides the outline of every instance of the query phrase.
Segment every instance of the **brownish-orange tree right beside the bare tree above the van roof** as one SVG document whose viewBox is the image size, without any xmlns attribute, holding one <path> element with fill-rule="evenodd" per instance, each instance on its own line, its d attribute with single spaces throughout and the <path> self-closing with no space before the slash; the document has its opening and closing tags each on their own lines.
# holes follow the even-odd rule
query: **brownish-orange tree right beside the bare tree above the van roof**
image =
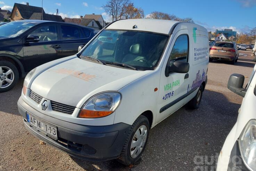
<svg viewBox="0 0 256 171">
<path fill-rule="evenodd" d="M 135 8 L 133 3 L 125 5 L 124 19 L 144 18 L 144 10 L 141 8 Z"/>
</svg>

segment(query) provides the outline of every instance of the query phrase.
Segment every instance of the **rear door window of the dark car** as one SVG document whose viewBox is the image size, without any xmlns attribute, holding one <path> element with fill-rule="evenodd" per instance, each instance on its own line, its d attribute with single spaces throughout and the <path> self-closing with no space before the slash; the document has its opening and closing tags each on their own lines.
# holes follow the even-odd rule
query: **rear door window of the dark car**
<svg viewBox="0 0 256 171">
<path fill-rule="evenodd" d="M 81 39 L 78 27 L 61 25 L 61 37 L 63 40 Z"/>
</svg>

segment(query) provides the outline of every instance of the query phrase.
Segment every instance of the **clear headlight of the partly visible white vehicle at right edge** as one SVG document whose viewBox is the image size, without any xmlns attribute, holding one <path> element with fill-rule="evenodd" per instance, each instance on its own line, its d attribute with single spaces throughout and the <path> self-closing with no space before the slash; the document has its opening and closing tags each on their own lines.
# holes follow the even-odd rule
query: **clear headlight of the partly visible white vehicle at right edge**
<svg viewBox="0 0 256 171">
<path fill-rule="evenodd" d="M 256 170 L 256 120 L 250 120 L 239 137 L 239 149 L 246 166 Z"/>
</svg>

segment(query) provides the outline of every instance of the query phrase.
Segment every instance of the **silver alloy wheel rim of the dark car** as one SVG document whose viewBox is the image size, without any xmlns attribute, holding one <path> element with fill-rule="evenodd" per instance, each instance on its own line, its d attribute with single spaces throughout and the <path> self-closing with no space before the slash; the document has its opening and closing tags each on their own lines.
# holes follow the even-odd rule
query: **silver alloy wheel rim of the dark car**
<svg viewBox="0 0 256 171">
<path fill-rule="evenodd" d="M 9 67 L 0 66 L 0 88 L 6 88 L 13 83 L 14 72 Z"/>
</svg>

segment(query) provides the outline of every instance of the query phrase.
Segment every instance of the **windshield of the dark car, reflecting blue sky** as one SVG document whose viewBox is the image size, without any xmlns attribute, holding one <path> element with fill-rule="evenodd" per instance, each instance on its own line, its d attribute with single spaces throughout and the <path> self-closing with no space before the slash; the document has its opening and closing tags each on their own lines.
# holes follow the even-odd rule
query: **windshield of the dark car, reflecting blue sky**
<svg viewBox="0 0 256 171">
<path fill-rule="evenodd" d="M 27 22 L 10 22 L 4 24 L 0 26 L 0 39 L 19 36 L 34 25 L 34 23 Z"/>
</svg>

